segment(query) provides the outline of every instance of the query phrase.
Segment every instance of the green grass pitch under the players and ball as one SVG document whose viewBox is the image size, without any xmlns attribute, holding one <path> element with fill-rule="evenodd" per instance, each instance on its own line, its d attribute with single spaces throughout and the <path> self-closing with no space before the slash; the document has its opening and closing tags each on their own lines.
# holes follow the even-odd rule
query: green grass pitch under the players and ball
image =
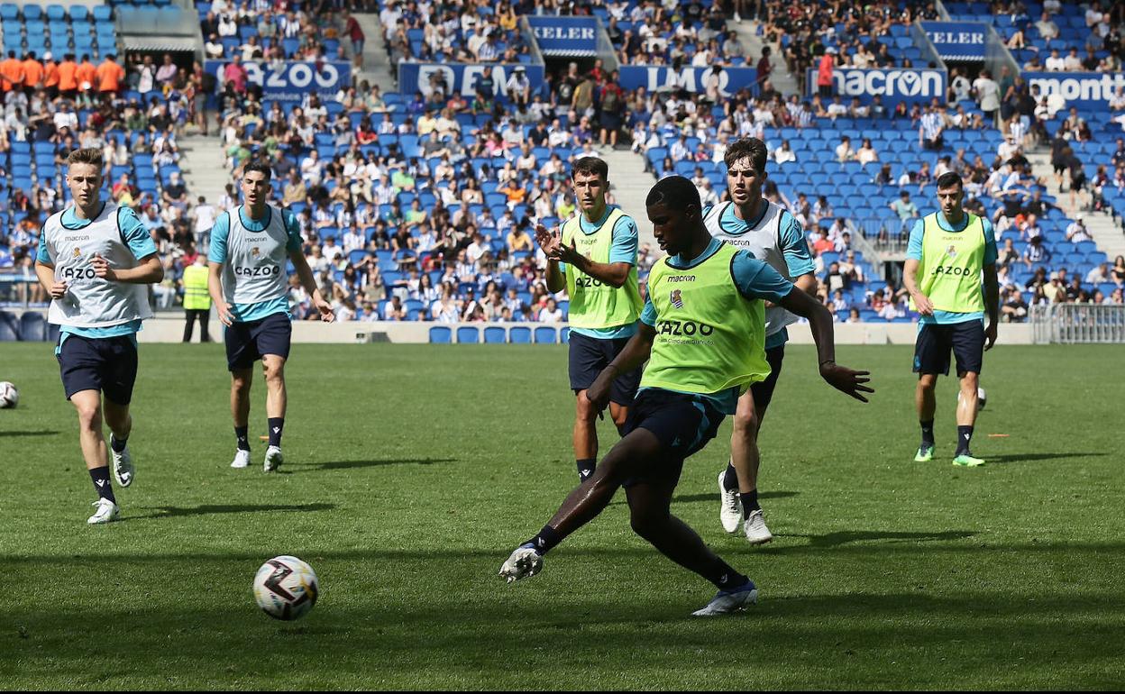
<svg viewBox="0 0 1125 694">
<path fill-rule="evenodd" d="M 1002 335 L 1001 335 L 1002 336 Z M 986 359 L 981 469 L 934 462 L 909 348 L 843 348 L 871 405 L 791 348 L 762 435 L 773 544 L 722 533 L 729 422 L 674 513 L 749 574 L 745 615 L 692 619 L 712 587 L 631 534 L 623 495 L 505 585 L 501 564 L 574 487 L 565 348 L 296 345 L 282 474 L 232 470 L 218 345 L 141 348 L 124 521 L 94 496 L 46 344 L 0 346 L 4 688 L 1120 688 L 1125 493 L 1119 346 Z M 988 434 L 1009 434 L 989 438 Z M 603 451 L 614 436 L 603 424 Z M 270 557 L 313 565 L 294 623 L 253 603 Z"/>
</svg>

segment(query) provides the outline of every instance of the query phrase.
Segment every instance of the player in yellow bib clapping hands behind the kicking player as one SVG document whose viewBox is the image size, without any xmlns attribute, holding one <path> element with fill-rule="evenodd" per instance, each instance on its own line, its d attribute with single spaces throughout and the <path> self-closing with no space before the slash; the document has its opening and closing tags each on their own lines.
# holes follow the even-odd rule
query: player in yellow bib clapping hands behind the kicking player
<svg viewBox="0 0 1125 694">
<path fill-rule="evenodd" d="M 547 288 L 570 297 L 570 389 L 576 396 L 574 457 L 578 480 L 590 477 L 597 460 L 597 415 L 586 390 L 637 334 L 641 299 L 637 281 L 637 224 L 605 204 L 610 169 L 596 156 L 574 163 L 570 179 L 579 214 L 562 224 L 561 235 L 536 229 L 547 254 Z M 620 431 L 637 395 L 640 369 L 613 380 L 610 416 Z"/>
</svg>

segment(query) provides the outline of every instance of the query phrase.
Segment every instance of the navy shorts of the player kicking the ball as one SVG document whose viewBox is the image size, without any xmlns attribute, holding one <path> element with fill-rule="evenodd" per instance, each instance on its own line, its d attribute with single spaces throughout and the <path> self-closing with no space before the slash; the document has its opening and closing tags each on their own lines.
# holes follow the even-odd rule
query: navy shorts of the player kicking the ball
<svg viewBox="0 0 1125 694">
<path fill-rule="evenodd" d="M 626 480 L 624 486 L 639 483 L 675 486 L 684 460 L 714 439 L 723 417 L 713 405 L 694 396 L 658 388 L 642 390 L 629 409 L 622 435 L 637 429 L 647 430 L 660 441 L 664 456 L 652 460 L 646 472 Z"/>
</svg>

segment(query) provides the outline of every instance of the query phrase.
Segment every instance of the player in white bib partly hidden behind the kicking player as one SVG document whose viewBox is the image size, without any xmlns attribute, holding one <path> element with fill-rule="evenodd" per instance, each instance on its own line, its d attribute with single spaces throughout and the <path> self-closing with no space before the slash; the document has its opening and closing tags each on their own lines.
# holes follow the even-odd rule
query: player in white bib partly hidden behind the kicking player
<svg viewBox="0 0 1125 694">
<path fill-rule="evenodd" d="M 736 141 L 723 156 L 730 202 L 703 209 L 703 225 L 716 238 L 754 258 L 764 260 L 801 291 L 816 294 L 812 254 L 801 224 L 785 208 L 762 197 L 766 180 L 766 144 L 757 137 Z M 750 386 L 738 398 L 735 427 L 730 435 L 730 462 L 719 475 L 719 520 L 727 532 L 736 532 L 739 521 L 750 544 L 773 540 L 758 504 L 758 430 L 773 399 L 782 361 L 785 359 L 785 326 L 796 316 L 781 306 L 766 304 L 766 362 L 770 376 Z"/>
</svg>

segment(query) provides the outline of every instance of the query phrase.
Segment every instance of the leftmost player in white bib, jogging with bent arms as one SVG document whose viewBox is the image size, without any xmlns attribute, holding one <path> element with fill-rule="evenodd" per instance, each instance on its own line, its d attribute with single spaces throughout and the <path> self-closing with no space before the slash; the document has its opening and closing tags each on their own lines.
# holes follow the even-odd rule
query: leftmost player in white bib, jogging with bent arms
<svg viewBox="0 0 1125 694">
<path fill-rule="evenodd" d="M 78 411 L 82 457 L 98 493 L 90 524 L 120 515 L 109 480 L 102 416 L 110 431 L 114 477 L 122 487 L 133 484 L 128 438 L 136 333 L 141 322 L 152 317 L 145 285 L 164 278 L 156 245 L 136 213 L 101 201 L 102 166 L 99 148 L 75 150 L 66 157 L 74 206 L 47 218 L 35 261 L 39 283 L 51 294 L 47 319 L 61 326 L 55 357 L 66 399 Z"/>
</svg>

